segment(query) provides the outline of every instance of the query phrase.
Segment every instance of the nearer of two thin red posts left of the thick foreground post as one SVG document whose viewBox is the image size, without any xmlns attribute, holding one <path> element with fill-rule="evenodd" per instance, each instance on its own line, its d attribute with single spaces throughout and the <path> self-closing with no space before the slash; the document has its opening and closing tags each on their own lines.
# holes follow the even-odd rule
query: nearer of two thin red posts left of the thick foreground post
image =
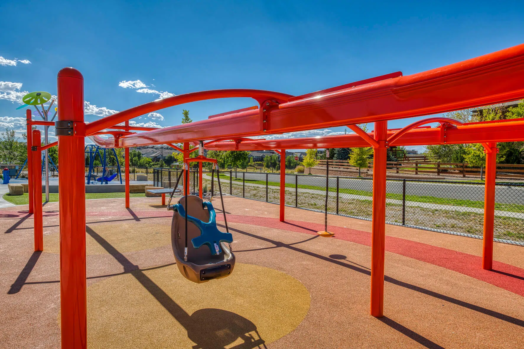
<svg viewBox="0 0 524 349">
<path fill-rule="evenodd" d="M 33 130 L 30 134 L 31 144 L 36 144 L 31 148 L 32 160 L 32 193 L 29 197 L 33 198 L 33 224 L 35 230 L 35 251 L 43 251 L 43 222 L 42 222 L 42 162 L 41 162 L 41 136 L 39 130 Z M 29 138 L 28 137 L 28 138 Z"/>
</svg>

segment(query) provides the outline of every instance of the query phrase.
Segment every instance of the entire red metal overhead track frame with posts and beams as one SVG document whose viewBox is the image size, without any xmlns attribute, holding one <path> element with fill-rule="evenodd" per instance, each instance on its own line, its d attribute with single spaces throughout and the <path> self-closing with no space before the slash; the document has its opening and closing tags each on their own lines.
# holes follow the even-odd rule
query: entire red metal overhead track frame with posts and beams
<svg viewBox="0 0 524 349">
<path fill-rule="evenodd" d="M 418 74 L 402 76 L 395 72 L 322 91 L 291 96 L 253 89 L 224 89 L 173 96 L 85 123 L 83 76 L 73 68 L 58 73 L 59 162 L 60 171 L 60 294 L 62 347 L 86 347 L 86 262 L 85 262 L 85 182 L 84 137 L 106 148 L 126 148 L 126 207 L 129 207 L 129 147 L 168 144 L 184 154 L 188 162 L 190 143 L 203 143 L 213 150 L 373 147 L 372 273 L 370 313 L 383 316 L 384 251 L 386 219 L 386 151 L 389 145 L 482 143 L 486 150 L 484 214 L 484 269 L 492 269 L 495 209 L 495 166 L 497 142 L 524 141 L 524 119 L 474 122 L 462 125 L 452 119 L 430 118 L 401 130 L 388 130 L 387 121 L 414 116 L 508 102 L 524 97 L 524 44 L 481 57 Z M 251 97 L 258 106 L 210 116 L 206 120 L 162 129 L 130 127 L 129 120 L 155 110 L 214 98 Z M 28 132 L 36 121 L 27 114 Z M 41 125 L 41 121 L 38 121 Z M 374 122 L 373 132 L 357 124 Z M 420 127 L 439 122 L 438 128 Z M 325 127 L 348 126 L 354 134 L 330 137 L 264 140 L 246 137 Z M 111 129 L 111 130 L 108 130 Z M 116 130 L 116 131 L 115 131 Z M 120 131 L 118 131 L 120 130 Z M 143 131 L 136 133 L 133 131 Z M 111 134 L 104 139 L 99 134 Z M 28 159 L 40 151 L 39 131 L 28 138 Z M 35 144 L 34 147 L 31 147 Z M 172 143 L 183 143 L 180 149 Z M 35 157 L 38 155 L 35 154 Z M 285 161 L 285 156 L 281 156 Z M 39 161 L 28 161 L 35 212 L 35 250 L 42 250 L 41 188 Z M 281 166 L 281 168 L 285 168 Z M 202 172 L 199 172 L 202 176 Z M 280 220 L 285 219 L 281 171 Z M 38 178 L 37 178 L 38 177 Z M 200 181 L 202 178 L 199 178 Z M 41 185 L 41 184 L 40 184 Z M 187 191 L 184 186 L 184 191 Z M 201 193 L 200 193 L 201 195 Z M 37 219 L 36 216 L 39 216 Z"/>
</svg>

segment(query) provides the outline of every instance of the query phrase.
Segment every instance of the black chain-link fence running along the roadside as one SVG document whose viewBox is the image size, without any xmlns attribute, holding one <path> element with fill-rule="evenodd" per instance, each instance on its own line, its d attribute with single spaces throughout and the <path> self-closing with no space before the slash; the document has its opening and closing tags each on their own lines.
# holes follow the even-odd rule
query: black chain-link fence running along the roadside
<svg viewBox="0 0 524 349">
<path fill-rule="evenodd" d="M 155 169 L 154 185 L 172 188 L 180 170 Z M 213 174 L 213 181 L 211 175 Z M 216 173 L 203 171 L 204 193 L 218 195 Z M 280 174 L 220 172 L 222 193 L 279 203 Z M 179 183 L 182 189 L 183 178 Z M 190 192 L 198 194 L 198 173 L 190 172 Z M 330 177 L 328 213 L 371 220 L 372 178 Z M 326 177 L 286 174 L 286 206 L 324 212 Z M 482 239 L 484 183 L 388 179 L 386 221 L 389 224 Z M 497 183 L 495 241 L 524 245 L 524 184 Z"/>
</svg>

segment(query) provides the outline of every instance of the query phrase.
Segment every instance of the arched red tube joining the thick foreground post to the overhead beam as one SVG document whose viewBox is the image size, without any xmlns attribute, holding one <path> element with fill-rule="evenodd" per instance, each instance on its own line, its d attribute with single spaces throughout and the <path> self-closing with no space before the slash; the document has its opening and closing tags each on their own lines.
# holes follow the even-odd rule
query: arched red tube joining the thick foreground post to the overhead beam
<svg viewBox="0 0 524 349">
<path fill-rule="evenodd" d="M 100 120 L 90 122 L 88 125 L 86 125 L 85 133 L 89 136 L 94 132 L 111 127 L 113 125 L 116 125 L 117 123 L 121 123 L 126 120 L 133 119 L 137 116 L 147 114 L 148 112 L 163 108 L 168 108 L 185 103 L 198 102 L 199 100 L 235 97 L 250 97 L 257 100 L 258 103 L 262 103 L 266 99 L 286 101 L 293 96 L 285 93 L 247 88 L 215 89 L 212 91 L 192 92 L 160 100 L 155 100 L 154 102 L 139 105 L 137 107 L 117 112 L 116 114 L 107 116 Z"/>
</svg>

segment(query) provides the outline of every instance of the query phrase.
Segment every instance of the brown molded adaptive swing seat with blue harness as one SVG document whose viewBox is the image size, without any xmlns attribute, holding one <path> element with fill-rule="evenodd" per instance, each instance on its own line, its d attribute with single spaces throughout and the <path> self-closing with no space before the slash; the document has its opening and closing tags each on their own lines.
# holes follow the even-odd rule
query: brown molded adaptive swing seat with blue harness
<svg viewBox="0 0 524 349">
<path fill-rule="evenodd" d="M 185 230 L 185 200 L 188 231 Z M 177 266 L 182 275 L 194 283 L 205 283 L 226 277 L 233 272 L 235 255 L 228 243 L 233 242 L 231 233 L 216 228 L 216 213 L 211 202 L 203 202 L 198 196 L 183 196 L 174 205 L 171 221 L 171 246 Z M 185 234 L 188 252 L 184 261 Z M 205 246 L 204 246 L 205 245 Z"/>
</svg>

